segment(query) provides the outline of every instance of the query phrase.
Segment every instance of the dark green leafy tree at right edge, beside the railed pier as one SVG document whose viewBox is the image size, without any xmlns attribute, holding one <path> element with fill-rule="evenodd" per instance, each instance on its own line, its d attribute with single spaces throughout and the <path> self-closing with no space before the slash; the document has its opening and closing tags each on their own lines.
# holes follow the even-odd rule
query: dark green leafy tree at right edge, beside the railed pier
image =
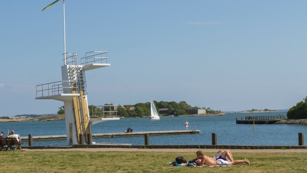
<svg viewBox="0 0 307 173">
<path fill-rule="evenodd" d="M 306 97 L 307 98 L 307 97 Z M 296 106 L 293 106 L 287 112 L 288 119 L 307 119 L 307 100 L 304 102 L 298 102 Z"/>
</svg>

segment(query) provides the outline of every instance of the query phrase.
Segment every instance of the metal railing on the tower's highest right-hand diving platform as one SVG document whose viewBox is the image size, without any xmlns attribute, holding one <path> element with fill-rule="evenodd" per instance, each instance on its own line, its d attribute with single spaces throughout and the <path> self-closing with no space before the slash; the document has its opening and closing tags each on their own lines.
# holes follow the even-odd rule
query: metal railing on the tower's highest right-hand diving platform
<svg viewBox="0 0 307 173">
<path fill-rule="evenodd" d="M 81 58 L 81 65 L 103 62 L 108 63 L 108 52 L 92 51 L 87 52 L 84 58 Z"/>
</svg>

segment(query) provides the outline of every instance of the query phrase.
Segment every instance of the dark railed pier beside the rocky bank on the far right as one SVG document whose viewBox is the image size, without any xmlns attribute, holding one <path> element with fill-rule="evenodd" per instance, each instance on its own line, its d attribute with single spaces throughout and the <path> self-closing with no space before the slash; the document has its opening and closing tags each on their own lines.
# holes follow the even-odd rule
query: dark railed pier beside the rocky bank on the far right
<svg viewBox="0 0 307 173">
<path fill-rule="evenodd" d="M 237 124 L 274 124 L 282 119 L 285 119 L 285 116 L 247 116 L 245 119 L 235 119 L 235 121 Z"/>
</svg>

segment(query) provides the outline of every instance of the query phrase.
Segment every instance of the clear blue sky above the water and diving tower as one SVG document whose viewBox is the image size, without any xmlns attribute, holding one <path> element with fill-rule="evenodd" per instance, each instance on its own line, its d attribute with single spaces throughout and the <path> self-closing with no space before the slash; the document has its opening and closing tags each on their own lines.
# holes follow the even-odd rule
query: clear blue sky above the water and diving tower
<svg viewBox="0 0 307 173">
<path fill-rule="evenodd" d="M 56 113 L 36 85 L 61 81 L 63 1 L 0 1 L 0 116 Z M 66 52 L 108 51 L 86 72 L 89 105 L 186 101 L 289 109 L 307 95 L 307 1 L 66 0 Z"/>
</svg>

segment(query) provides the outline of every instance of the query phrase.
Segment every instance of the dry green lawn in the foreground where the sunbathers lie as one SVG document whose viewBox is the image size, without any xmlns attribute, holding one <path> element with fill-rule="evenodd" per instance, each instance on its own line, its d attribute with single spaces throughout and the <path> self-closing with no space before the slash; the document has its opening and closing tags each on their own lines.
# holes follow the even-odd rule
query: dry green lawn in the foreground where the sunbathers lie
<svg viewBox="0 0 307 173">
<path fill-rule="evenodd" d="M 307 172 L 305 152 L 233 152 L 234 159 L 249 159 L 235 167 L 173 167 L 167 162 L 178 156 L 186 160 L 195 152 L 139 152 L 139 151 L 0 151 L 1 172 L 106 172 L 106 173 L 258 173 Z M 208 156 L 215 153 L 208 153 Z"/>
</svg>

